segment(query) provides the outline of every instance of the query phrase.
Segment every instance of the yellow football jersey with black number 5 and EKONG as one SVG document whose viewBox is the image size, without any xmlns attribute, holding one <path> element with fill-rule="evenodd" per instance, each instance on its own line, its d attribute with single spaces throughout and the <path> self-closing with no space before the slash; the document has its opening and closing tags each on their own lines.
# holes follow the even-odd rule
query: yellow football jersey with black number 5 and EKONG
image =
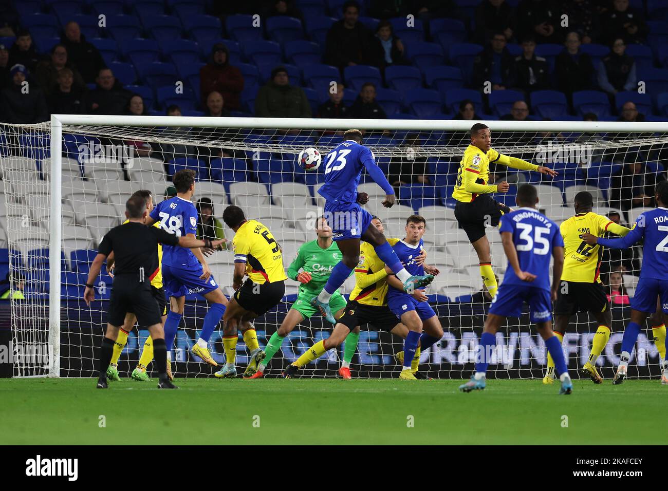
<svg viewBox="0 0 668 491">
<path fill-rule="evenodd" d="M 247 220 L 232 239 L 234 263 L 246 263 L 246 275 L 258 285 L 287 280 L 279 243 L 269 228 Z"/>
</svg>

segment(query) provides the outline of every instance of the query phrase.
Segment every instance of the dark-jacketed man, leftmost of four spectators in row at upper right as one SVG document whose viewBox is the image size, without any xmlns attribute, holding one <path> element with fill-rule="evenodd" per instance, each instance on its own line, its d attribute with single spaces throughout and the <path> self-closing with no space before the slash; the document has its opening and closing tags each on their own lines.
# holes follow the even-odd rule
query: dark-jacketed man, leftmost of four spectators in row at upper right
<svg viewBox="0 0 668 491">
<path fill-rule="evenodd" d="M 490 46 L 477 56 L 473 65 L 473 88 L 483 90 L 488 81 L 492 90 L 505 90 L 512 84 L 512 55 L 506 47 L 506 36 L 502 31 L 494 33 Z"/>
</svg>

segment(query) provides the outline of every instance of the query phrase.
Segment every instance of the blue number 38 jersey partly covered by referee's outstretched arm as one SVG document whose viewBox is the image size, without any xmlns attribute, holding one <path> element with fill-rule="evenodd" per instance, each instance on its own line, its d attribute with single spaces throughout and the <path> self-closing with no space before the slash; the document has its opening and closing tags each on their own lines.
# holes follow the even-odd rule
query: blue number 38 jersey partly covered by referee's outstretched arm
<svg viewBox="0 0 668 491">
<path fill-rule="evenodd" d="M 192 201 L 178 196 L 164 200 L 153 208 L 151 218 L 160 222 L 160 228 L 176 234 L 177 237 L 187 234 L 197 235 L 197 209 Z M 162 264 L 174 267 L 198 266 L 195 255 L 186 247 L 162 246 Z"/>
</svg>

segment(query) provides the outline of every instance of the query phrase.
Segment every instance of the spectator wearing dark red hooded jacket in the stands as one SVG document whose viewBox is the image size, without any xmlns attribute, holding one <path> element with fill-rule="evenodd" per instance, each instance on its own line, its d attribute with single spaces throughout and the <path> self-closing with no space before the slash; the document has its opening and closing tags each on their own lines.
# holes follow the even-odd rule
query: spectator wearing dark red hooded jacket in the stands
<svg viewBox="0 0 668 491">
<path fill-rule="evenodd" d="M 240 95 L 244 90 L 241 71 L 230 65 L 230 51 L 223 43 L 214 44 L 209 62 L 200 69 L 202 104 L 211 92 L 220 92 L 229 110 L 241 108 Z"/>
</svg>

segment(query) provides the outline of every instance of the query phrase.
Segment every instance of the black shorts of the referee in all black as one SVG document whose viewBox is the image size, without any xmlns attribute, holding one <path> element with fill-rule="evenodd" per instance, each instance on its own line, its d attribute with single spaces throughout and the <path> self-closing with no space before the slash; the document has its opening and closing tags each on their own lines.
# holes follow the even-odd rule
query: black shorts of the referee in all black
<svg viewBox="0 0 668 491">
<path fill-rule="evenodd" d="M 128 312 L 134 313 L 140 326 L 160 324 L 161 312 L 150 283 L 140 282 L 137 275 L 116 275 L 109 300 L 108 323 L 122 326 Z"/>
</svg>

